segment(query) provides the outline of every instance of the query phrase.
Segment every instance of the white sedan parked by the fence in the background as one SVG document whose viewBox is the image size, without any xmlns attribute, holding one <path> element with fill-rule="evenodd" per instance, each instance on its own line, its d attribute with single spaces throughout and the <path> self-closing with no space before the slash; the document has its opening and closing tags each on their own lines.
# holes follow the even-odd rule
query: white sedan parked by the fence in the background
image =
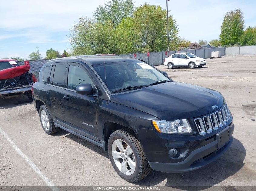
<svg viewBox="0 0 256 191">
<path fill-rule="evenodd" d="M 202 68 L 206 65 L 206 61 L 192 53 L 176 53 L 166 58 L 164 65 L 168 66 L 169 69 L 182 66 L 188 66 L 189 68 L 198 66 L 198 68 Z"/>
</svg>

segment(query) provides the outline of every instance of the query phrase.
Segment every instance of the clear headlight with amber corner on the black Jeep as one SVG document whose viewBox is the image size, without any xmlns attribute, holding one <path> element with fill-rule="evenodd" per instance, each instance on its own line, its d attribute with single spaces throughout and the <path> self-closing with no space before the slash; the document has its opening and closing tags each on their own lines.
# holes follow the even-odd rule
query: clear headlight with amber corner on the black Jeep
<svg viewBox="0 0 256 191">
<path fill-rule="evenodd" d="M 187 119 L 176 119 L 173 121 L 153 120 L 155 129 L 160 133 L 191 133 L 192 129 Z"/>
</svg>

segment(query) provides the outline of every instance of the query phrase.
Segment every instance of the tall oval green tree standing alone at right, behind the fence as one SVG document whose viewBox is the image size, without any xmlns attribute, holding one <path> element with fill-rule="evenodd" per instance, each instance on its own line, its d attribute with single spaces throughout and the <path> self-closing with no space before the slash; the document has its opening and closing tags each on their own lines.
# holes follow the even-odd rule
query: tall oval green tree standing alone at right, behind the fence
<svg viewBox="0 0 256 191">
<path fill-rule="evenodd" d="M 220 41 L 221 45 L 234 45 L 239 43 L 244 31 L 244 16 L 241 9 L 235 9 L 234 11 L 228 11 L 224 15 L 222 25 Z"/>
</svg>

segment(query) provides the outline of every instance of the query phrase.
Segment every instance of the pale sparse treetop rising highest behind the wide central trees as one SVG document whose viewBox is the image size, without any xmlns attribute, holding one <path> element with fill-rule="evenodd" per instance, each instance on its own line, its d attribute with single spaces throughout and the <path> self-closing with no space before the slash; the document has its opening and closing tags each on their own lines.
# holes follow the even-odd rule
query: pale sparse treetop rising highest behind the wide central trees
<svg viewBox="0 0 256 191">
<path fill-rule="evenodd" d="M 123 18 L 131 17 L 133 10 L 133 0 L 107 0 L 105 6 L 98 6 L 93 15 L 97 21 L 114 21 L 118 25 Z"/>
</svg>

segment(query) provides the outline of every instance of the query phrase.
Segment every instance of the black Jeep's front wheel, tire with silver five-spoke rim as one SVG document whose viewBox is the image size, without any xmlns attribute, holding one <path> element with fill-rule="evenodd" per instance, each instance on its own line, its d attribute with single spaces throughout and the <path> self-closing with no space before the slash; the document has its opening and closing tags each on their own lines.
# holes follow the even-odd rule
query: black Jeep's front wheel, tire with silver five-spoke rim
<svg viewBox="0 0 256 191">
<path fill-rule="evenodd" d="M 110 135 L 108 155 L 115 171 L 128 182 L 138 182 L 150 173 L 141 144 L 130 129 L 120 129 Z"/>
</svg>

